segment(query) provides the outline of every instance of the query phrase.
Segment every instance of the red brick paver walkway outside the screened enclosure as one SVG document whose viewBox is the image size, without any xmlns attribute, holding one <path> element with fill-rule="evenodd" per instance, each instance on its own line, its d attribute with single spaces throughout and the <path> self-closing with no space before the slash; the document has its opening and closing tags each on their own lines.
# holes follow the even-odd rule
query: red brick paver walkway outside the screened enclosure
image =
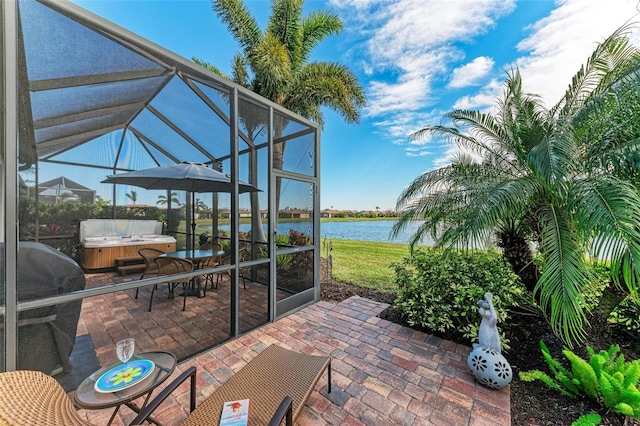
<svg viewBox="0 0 640 426">
<path fill-rule="evenodd" d="M 377 315 L 387 305 L 358 296 L 339 304 L 318 302 L 225 345 L 181 363 L 174 376 L 198 367 L 198 403 L 272 343 L 332 357 L 332 392 L 326 375 L 309 398 L 298 425 L 510 425 L 509 388 L 477 384 L 466 357 L 470 348 Z M 156 411 L 165 425 L 186 416 L 188 386 Z M 82 411 L 95 425 L 111 412 Z M 134 417 L 123 408 L 115 425 Z"/>
</svg>

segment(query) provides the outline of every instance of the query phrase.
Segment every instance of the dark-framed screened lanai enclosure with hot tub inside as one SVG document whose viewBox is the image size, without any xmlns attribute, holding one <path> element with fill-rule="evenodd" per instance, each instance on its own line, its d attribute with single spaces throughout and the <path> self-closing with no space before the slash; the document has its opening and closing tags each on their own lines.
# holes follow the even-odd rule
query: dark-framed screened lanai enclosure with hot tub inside
<svg viewBox="0 0 640 426">
<path fill-rule="evenodd" d="M 72 3 L 0 13 L 1 371 L 67 377 L 125 337 L 186 359 L 319 299 L 314 124 Z M 225 186 L 103 182 L 183 162 Z"/>
</svg>

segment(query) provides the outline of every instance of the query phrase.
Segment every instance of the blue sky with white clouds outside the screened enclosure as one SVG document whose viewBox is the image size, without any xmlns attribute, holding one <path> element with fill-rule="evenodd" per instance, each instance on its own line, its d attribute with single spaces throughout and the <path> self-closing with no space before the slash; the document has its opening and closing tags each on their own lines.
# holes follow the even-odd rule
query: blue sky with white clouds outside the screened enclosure
<svg viewBox="0 0 640 426">
<path fill-rule="evenodd" d="M 209 0 L 73 2 L 230 72 L 238 47 Z M 264 28 L 270 2 L 245 4 Z M 306 0 L 305 14 L 331 9 L 345 23 L 312 60 L 348 65 L 367 96 L 358 125 L 326 111 L 320 207 L 393 209 L 406 185 L 455 153 L 408 135 L 454 108 L 489 110 L 514 65 L 526 91 L 555 104 L 596 43 L 637 7 L 636 0 Z"/>
</svg>

